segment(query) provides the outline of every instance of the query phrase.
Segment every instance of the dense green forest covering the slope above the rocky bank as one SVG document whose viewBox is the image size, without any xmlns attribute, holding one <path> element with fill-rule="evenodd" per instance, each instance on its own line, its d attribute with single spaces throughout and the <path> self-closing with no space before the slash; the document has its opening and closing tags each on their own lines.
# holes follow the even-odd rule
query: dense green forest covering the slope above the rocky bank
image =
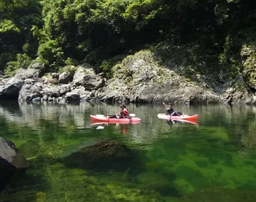
<svg viewBox="0 0 256 202">
<path fill-rule="evenodd" d="M 11 73 L 35 59 L 47 71 L 84 61 L 100 66 L 159 42 L 197 42 L 232 65 L 242 38 L 254 35 L 255 5 L 252 0 L 2 0 L 0 68 Z"/>
</svg>

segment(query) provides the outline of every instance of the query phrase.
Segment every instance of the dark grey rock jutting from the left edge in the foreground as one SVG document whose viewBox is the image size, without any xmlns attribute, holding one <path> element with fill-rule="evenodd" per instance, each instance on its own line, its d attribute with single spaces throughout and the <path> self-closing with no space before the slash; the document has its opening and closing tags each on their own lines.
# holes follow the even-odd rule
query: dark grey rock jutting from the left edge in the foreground
<svg viewBox="0 0 256 202">
<path fill-rule="evenodd" d="M 25 173 L 27 160 L 22 157 L 13 142 L 0 137 L 0 191 L 17 173 Z"/>
</svg>

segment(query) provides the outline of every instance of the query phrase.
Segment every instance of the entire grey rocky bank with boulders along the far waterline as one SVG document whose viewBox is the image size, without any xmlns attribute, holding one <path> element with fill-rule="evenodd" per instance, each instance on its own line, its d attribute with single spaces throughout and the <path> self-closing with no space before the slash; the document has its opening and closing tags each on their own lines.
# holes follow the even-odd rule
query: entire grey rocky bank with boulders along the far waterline
<svg viewBox="0 0 256 202">
<path fill-rule="evenodd" d="M 150 50 L 124 58 L 113 68 L 111 80 L 106 80 L 102 73 L 96 75 L 89 64 L 80 65 L 74 74 L 52 73 L 42 78 L 38 77 L 39 68 L 27 68 L 17 71 L 14 78 L 0 78 L 0 99 L 62 104 L 74 101 L 256 104 L 255 47 L 243 47 L 240 55 L 244 68 L 235 79 L 219 76 L 216 80 L 190 70 L 185 57 L 178 60 L 174 55 L 162 60 Z M 207 67 L 204 61 L 199 65 Z"/>
</svg>

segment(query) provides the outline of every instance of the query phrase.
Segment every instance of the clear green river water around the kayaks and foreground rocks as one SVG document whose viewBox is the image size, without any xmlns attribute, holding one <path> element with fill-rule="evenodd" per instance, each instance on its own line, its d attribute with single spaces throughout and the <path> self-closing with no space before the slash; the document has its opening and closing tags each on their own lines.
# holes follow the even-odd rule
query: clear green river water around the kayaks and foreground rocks
<svg viewBox="0 0 256 202">
<path fill-rule="evenodd" d="M 175 104 L 197 122 L 167 122 L 163 105 L 128 104 L 139 124 L 91 125 L 111 104 L 1 104 L 0 137 L 27 158 L 0 201 L 256 201 L 256 108 Z M 54 161 L 99 139 L 137 154 L 124 172 L 68 168 Z M 240 199 L 240 200 L 239 200 Z"/>
</svg>

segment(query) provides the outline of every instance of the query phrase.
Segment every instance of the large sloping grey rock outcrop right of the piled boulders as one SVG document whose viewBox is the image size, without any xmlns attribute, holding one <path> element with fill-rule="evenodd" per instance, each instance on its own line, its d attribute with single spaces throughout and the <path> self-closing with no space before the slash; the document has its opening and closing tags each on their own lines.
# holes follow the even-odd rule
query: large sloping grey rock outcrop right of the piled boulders
<svg viewBox="0 0 256 202">
<path fill-rule="evenodd" d="M 242 75 L 220 83 L 197 73 L 187 78 L 180 73 L 182 68 L 172 60 L 159 61 L 152 52 L 139 52 L 117 65 L 114 78 L 95 96 L 101 101 L 120 102 L 256 104 L 256 96 L 248 91 Z"/>
</svg>

